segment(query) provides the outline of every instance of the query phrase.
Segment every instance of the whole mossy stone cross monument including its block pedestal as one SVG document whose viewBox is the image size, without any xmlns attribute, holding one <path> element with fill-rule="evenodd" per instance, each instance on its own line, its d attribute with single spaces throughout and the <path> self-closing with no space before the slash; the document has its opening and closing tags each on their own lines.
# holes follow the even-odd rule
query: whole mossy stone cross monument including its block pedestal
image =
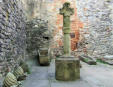
<svg viewBox="0 0 113 87">
<path fill-rule="evenodd" d="M 56 79 L 61 81 L 77 80 L 80 78 L 80 61 L 71 56 L 70 16 L 74 14 L 74 9 L 70 8 L 69 2 L 64 3 L 60 14 L 63 15 L 64 55 L 55 60 Z"/>
</svg>

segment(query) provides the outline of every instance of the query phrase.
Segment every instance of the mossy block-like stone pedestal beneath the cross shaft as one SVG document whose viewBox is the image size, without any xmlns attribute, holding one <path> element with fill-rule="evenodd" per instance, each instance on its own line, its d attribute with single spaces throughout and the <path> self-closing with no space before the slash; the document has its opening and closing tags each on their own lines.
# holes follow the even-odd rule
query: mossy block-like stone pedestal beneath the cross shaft
<svg viewBox="0 0 113 87">
<path fill-rule="evenodd" d="M 60 57 L 55 60 L 56 80 L 73 81 L 80 79 L 80 61 L 74 57 Z"/>
</svg>

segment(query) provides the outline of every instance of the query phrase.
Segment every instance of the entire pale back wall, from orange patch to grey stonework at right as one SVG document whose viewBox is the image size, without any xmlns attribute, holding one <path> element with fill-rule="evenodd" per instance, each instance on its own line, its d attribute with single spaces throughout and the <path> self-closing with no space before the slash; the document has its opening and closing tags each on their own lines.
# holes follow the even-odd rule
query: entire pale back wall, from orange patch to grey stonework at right
<svg viewBox="0 0 113 87">
<path fill-rule="evenodd" d="M 72 50 L 101 57 L 112 55 L 112 0 L 22 0 L 29 20 L 36 17 L 48 20 L 48 28 L 54 35 L 51 45 L 54 48 L 63 45 L 63 22 L 59 9 L 66 1 L 75 9 L 71 17 L 72 34 L 75 34 L 71 40 Z"/>
</svg>

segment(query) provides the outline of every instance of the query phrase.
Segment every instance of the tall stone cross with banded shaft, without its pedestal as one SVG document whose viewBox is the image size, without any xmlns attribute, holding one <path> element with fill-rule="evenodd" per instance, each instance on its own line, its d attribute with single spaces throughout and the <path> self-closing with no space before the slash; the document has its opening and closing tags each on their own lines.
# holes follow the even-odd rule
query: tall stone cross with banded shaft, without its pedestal
<svg viewBox="0 0 113 87">
<path fill-rule="evenodd" d="M 63 15 L 64 55 L 69 56 L 71 54 L 70 16 L 74 14 L 74 9 L 70 8 L 69 2 L 63 4 L 60 14 Z"/>
</svg>

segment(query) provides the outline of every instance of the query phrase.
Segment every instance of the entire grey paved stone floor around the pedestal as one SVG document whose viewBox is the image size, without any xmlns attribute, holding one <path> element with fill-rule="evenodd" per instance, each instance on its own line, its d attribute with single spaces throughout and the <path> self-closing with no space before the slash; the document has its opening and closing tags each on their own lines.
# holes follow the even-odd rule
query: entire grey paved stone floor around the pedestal
<svg viewBox="0 0 113 87">
<path fill-rule="evenodd" d="M 100 63 L 87 65 L 82 62 L 80 80 L 63 82 L 55 80 L 54 60 L 49 67 L 34 64 L 23 87 L 113 87 L 113 66 Z"/>
</svg>

